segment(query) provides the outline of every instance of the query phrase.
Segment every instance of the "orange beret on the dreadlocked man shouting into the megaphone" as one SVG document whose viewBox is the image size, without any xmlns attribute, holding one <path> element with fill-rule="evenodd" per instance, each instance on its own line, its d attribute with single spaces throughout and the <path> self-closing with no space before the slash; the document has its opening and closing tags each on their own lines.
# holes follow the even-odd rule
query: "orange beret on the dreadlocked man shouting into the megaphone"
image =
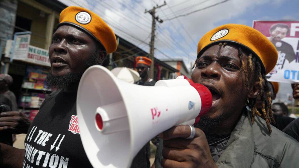
<svg viewBox="0 0 299 168">
<path fill-rule="evenodd" d="M 206 33 L 197 44 L 197 58 L 211 45 L 220 42 L 230 42 L 247 48 L 264 65 L 264 74 L 269 73 L 276 65 L 278 54 L 271 41 L 258 30 L 242 24 L 224 24 Z"/>
</svg>

